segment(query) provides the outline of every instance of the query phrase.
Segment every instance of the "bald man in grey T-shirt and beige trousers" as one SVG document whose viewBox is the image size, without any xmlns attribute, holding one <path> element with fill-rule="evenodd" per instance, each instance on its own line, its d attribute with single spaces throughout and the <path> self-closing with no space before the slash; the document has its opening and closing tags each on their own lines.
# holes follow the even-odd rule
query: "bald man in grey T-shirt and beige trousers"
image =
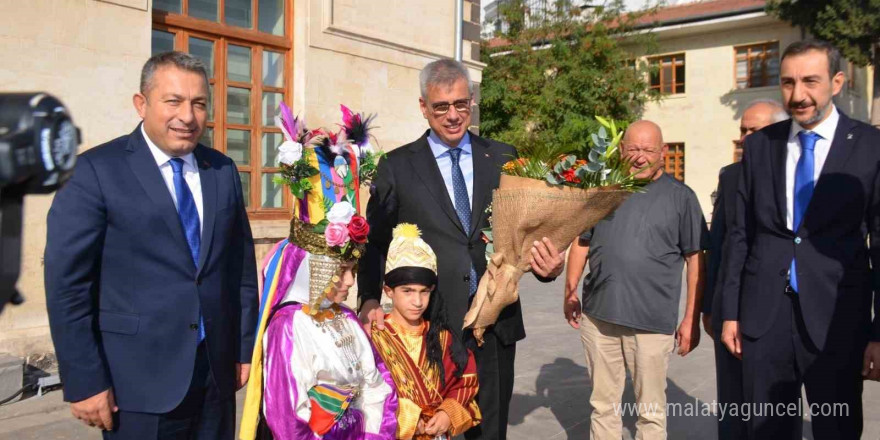
<svg viewBox="0 0 880 440">
<path fill-rule="evenodd" d="M 669 354 L 677 344 L 684 356 L 700 339 L 702 250 L 708 232 L 694 192 L 661 167 L 667 147 L 656 124 L 633 123 L 621 151 L 633 161 L 633 172 L 651 182 L 572 245 L 564 312 L 581 331 L 592 382 L 590 438 L 621 438 L 621 414 L 615 407 L 628 368 L 639 407 L 657 409 L 639 414 L 636 437 L 665 439 Z M 588 261 L 581 305 L 577 284 Z M 687 306 L 679 325 L 685 267 Z"/>
</svg>

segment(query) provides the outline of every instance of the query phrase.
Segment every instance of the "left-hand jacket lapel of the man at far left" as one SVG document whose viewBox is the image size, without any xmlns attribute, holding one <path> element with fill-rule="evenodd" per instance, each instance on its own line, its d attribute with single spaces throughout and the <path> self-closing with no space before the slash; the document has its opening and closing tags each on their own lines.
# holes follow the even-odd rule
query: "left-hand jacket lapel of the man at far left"
<svg viewBox="0 0 880 440">
<path fill-rule="evenodd" d="M 128 165 L 131 167 L 132 173 L 143 187 L 144 192 L 156 206 L 156 212 L 165 221 L 168 230 L 171 232 L 171 238 L 178 243 L 180 249 L 190 255 L 189 248 L 186 244 L 186 238 L 183 235 L 183 226 L 180 224 L 180 217 L 177 215 L 177 208 L 174 207 L 174 200 L 171 199 L 171 193 L 168 192 L 168 186 L 162 178 L 162 172 L 156 165 L 156 159 L 150 153 L 150 147 L 141 134 L 140 125 L 129 136 L 128 146 L 126 150 L 128 155 Z M 192 261 L 192 257 L 190 257 Z"/>
</svg>

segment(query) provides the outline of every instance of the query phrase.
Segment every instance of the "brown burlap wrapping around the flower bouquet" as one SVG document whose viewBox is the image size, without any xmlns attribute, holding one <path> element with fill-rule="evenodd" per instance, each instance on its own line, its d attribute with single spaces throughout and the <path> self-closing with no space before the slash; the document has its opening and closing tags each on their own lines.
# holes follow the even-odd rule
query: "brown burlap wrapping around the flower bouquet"
<svg viewBox="0 0 880 440">
<path fill-rule="evenodd" d="M 495 253 L 464 317 L 464 328 L 473 329 L 477 343 L 482 345 L 486 328 L 519 298 L 519 280 L 531 270 L 529 252 L 535 241 L 547 237 L 562 252 L 629 195 L 616 186 L 580 189 L 502 175 L 492 194 Z"/>
</svg>

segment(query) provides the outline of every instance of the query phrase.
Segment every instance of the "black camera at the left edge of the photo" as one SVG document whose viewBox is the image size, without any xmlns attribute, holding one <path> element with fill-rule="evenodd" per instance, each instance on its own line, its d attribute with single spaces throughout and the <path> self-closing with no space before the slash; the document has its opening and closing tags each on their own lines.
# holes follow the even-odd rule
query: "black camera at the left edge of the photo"
<svg viewBox="0 0 880 440">
<path fill-rule="evenodd" d="M 21 226 L 26 194 L 47 194 L 73 174 L 79 129 L 64 104 L 47 93 L 0 93 L 0 312 L 24 299 Z"/>
</svg>

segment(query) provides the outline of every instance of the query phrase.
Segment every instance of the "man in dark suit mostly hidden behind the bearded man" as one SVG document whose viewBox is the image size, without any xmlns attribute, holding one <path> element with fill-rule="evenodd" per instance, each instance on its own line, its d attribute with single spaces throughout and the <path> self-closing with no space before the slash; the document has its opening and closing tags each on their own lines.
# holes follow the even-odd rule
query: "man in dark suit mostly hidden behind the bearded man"
<svg viewBox="0 0 880 440">
<path fill-rule="evenodd" d="M 746 136 L 776 122 L 788 119 L 782 105 L 772 99 L 752 101 L 740 119 L 740 145 Z M 742 363 L 721 344 L 715 335 L 721 334 L 721 295 L 715 295 L 720 288 L 721 249 L 727 231 L 735 218 L 736 190 L 742 164 L 734 162 L 721 169 L 718 189 L 715 191 L 715 204 L 712 208 L 712 229 L 709 231 L 709 268 L 706 273 L 706 289 L 703 295 L 703 328 L 715 342 L 715 379 L 718 403 L 720 405 L 741 404 Z M 746 438 L 746 424 L 739 417 L 719 417 L 718 438 L 737 440 Z"/>
</svg>

